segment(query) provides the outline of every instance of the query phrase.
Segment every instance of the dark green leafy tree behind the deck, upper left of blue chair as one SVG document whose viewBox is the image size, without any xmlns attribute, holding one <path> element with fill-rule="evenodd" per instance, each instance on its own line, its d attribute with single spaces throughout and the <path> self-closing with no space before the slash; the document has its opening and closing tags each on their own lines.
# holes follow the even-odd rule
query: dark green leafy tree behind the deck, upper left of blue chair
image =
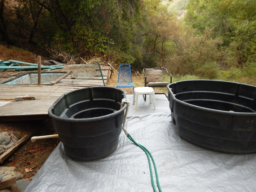
<svg viewBox="0 0 256 192">
<path fill-rule="evenodd" d="M 120 52 L 132 63 L 139 0 L 35 0 L 49 12 L 48 46 L 88 56 Z M 44 30 L 44 29 L 43 29 Z M 52 34 L 52 38 L 46 35 Z M 136 46 L 135 46 L 136 47 Z M 134 48 L 134 47 L 133 47 Z"/>
</svg>

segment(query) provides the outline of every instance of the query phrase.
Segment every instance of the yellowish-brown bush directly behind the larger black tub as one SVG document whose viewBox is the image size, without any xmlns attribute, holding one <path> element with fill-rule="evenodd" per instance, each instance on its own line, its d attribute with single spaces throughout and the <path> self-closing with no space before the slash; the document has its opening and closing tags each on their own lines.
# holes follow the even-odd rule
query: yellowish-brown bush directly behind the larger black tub
<svg viewBox="0 0 256 192">
<path fill-rule="evenodd" d="M 188 29 L 187 29 L 188 30 Z M 176 51 L 169 57 L 169 71 L 174 75 L 197 75 L 208 79 L 216 78 L 219 68 L 217 61 L 221 55 L 217 47 L 220 39 L 211 38 L 211 30 L 204 35 L 192 35 L 192 32 L 180 31 L 174 38 Z"/>
</svg>

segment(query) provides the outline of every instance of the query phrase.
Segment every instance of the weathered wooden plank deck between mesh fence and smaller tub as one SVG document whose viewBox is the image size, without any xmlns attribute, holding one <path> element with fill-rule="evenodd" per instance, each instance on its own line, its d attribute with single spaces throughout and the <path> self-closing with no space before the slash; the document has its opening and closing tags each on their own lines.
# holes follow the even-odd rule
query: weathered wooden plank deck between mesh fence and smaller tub
<svg viewBox="0 0 256 192">
<path fill-rule="evenodd" d="M 101 65 L 101 68 L 104 82 L 106 85 L 111 75 L 111 68 L 108 65 Z M 76 84 L 72 84 L 70 81 L 63 79 L 56 84 L 43 86 L 0 85 L 0 100 L 14 100 L 15 98 L 23 97 L 35 97 L 36 99 L 59 98 L 61 95 L 67 93 L 68 91 L 92 86 L 104 86 L 102 78 L 87 80 L 85 82 L 80 82 Z"/>
</svg>

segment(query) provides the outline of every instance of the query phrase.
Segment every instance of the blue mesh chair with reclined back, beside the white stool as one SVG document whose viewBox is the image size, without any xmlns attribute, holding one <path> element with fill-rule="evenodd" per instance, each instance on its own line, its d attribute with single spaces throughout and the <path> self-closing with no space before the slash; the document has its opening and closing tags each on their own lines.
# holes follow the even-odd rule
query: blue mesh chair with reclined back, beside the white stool
<svg viewBox="0 0 256 192">
<path fill-rule="evenodd" d="M 130 64 L 120 64 L 118 72 L 117 87 L 133 87 Z"/>
</svg>

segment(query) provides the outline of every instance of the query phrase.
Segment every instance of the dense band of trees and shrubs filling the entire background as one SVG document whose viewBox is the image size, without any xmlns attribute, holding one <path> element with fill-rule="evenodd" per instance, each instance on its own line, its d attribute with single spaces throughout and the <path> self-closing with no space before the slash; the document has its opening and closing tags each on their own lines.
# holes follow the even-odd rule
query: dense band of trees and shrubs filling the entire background
<svg viewBox="0 0 256 192">
<path fill-rule="evenodd" d="M 27 38 L 52 56 L 99 56 L 136 70 L 166 67 L 173 75 L 205 79 L 221 79 L 256 62 L 252 0 L 178 1 L 182 9 L 187 4 L 184 20 L 162 0 L 13 2 L 0 1 L 3 41 Z M 239 74 L 249 78 L 253 69 Z"/>
</svg>

